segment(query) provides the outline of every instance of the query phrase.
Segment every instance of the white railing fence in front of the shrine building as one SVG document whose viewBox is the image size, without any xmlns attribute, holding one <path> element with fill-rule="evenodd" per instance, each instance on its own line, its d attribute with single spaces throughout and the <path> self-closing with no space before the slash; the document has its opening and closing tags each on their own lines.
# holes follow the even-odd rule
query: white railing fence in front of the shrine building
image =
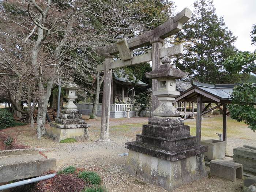
<svg viewBox="0 0 256 192">
<path fill-rule="evenodd" d="M 75 103 L 80 113 L 90 115 L 93 110 L 93 103 Z M 127 117 L 126 108 L 130 107 L 129 116 L 135 116 L 135 110 L 133 104 L 110 104 L 110 117 L 120 118 Z M 102 103 L 98 103 L 97 116 L 101 116 Z"/>
</svg>

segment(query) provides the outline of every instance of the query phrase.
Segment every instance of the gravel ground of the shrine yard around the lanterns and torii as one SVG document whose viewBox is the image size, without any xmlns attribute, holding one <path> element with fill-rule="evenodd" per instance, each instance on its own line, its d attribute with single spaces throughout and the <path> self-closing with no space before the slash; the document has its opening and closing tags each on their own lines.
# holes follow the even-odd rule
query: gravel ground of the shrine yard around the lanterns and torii
<svg viewBox="0 0 256 192">
<path fill-rule="evenodd" d="M 86 142 L 57 143 L 48 137 L 38 141 L 35 136 L 35 129 L 29 126 L 8 128 L 4 129 L 4 132 L 7 135 L 12 135 L 20 144 L 27 145 L 30 148 L 45 148 L 47 152 L 44 154 L 48 158 L 57 159 L 57 169 L 74 165 L 99 173 L 102 177 L 103 185 L 108 188 L 109 192 L 166 192 L 161 187 L 125 173 L 124 168 L 127 156 L 121 157 L 118 155 L 120 153 L 128 153 L 128 150 L 124 147 L 125 142 L 135 140 L 135 134 L 141 132 L 141 125 L 147 123 L 147 118 L 110 119 L 110 138 L 114 140 L 112 143 L 95 142 L 94 140 L 99 138 L 101 121 L 100 119 L 87 120 L 88 116 L 84 116 L 84 118 L 91 125 L 89 128 L 90 140 Z M 207 118 L 203 119 L 203 121 L 206 120 Z M 189 121 L 195 120 L 186 120 L 188 124 Z M 47 125 L 47 129 L 50 129 L 49 125 Z M 229 138 L 227 152 L 231 153 L 234 147 L 242 146 L 243 144 L 256 145 L 256 139 L 248 138 L 246 139 L 244 136 L 243 139 Z M 202 136 L 202 139 L 209 139 L 209 137 Z M 209 171 L 209 167 L 207 167 L 207 171 Z M 231 182 L 226 179 L 208 176 L 182 185 L 174 190 L 174 192 L 197 191 L 242 191 L 242 180 L 237 179 L 237 182 Z"/>
</svg>

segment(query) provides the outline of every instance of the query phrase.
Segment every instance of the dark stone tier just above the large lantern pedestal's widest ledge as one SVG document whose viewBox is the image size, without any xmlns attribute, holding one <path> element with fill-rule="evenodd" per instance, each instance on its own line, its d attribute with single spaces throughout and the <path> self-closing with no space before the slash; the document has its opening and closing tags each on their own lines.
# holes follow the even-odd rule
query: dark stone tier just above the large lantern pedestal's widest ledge
<svg viewBox="0 0 256 192">
<path fill-rule="evenodd" d="M 188 136 L 176 139 L 165 139 L 150 135 L 137 134 L 136 142 L 138 144 L 146 144 L 161 148 L 163 150 L 172 151 L 185 147 L 192 147 L 196 144 L 195 136 Z"/>
</svg>

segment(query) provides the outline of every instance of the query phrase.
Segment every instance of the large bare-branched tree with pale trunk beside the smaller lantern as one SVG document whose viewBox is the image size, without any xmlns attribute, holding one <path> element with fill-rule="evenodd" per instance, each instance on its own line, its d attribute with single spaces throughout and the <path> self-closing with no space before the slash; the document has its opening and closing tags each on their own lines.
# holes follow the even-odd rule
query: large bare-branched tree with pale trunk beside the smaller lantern
<svg viewBox="0 0 256 192">
<path fill-rule="evenodd" d="M 144 30 L 148 23 L 143 10 L 150 6 L 146 0 L 1 1 L 1 89 L 10 99 L 37 101 L 38 139 L 46 134 L 45 113 L 59 76 L 64 83 L 69 76 L 88 82 L 97 75 L 91 47 Z"/>
</svg>

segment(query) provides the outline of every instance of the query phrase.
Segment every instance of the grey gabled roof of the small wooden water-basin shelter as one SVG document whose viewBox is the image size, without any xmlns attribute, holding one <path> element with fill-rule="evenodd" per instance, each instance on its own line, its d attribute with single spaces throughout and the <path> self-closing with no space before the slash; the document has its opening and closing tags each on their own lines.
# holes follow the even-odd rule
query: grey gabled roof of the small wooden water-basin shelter
<svg viewBox="0 0 256 192">
<path fill-rule="evenodd" d="M 230 94 L 238 84 L 207 84 L 191 81 L 192 87 L 176 97 L 176 102 L 196 102 L 197 95 L 202 95 L 203 103 L 230 103 Z"/>
</svg>

